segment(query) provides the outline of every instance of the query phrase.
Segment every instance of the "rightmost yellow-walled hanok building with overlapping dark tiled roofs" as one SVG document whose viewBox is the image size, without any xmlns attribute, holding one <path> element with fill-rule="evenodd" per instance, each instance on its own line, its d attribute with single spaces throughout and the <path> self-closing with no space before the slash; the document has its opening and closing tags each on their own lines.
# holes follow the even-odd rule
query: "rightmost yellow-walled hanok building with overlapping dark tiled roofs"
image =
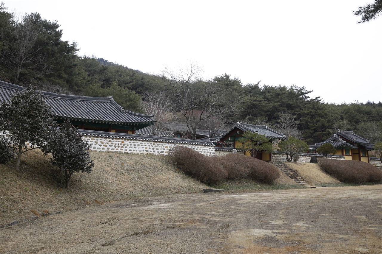
<svg viewBox="0 0 382 254">
<path fill-rule="evenodd" d="M 324 142 L 309 146 L 309 153 L 316 153 L 317 148 L 330 143 L 337 150 L 335 155 L 343 155 L 346 160 L 369 162 L 369 151 L 374 150 L 369 140 L 354 134 L 353 131 L 337 130 Z"/>
</svg>

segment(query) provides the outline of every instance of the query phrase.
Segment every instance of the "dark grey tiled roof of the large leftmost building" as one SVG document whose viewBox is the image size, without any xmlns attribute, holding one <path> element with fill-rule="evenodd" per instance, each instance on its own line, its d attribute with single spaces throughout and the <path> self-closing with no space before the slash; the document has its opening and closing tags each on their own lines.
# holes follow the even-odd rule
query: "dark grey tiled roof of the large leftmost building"
<svg viewBox="0 0 382 254">
<path fill-rule="evenodd" d="M 10 95 L 23 89 L 24 87 L 0 81 L 0 101 L 9 100 Z M 155 122 L 152 116 L 125 110 L 113 100 L 113 96 L 88 97 L 41 92 L 45 101 L 52 106 L 53 115 L 57 118 L 115 124 Z"/>
</svg>

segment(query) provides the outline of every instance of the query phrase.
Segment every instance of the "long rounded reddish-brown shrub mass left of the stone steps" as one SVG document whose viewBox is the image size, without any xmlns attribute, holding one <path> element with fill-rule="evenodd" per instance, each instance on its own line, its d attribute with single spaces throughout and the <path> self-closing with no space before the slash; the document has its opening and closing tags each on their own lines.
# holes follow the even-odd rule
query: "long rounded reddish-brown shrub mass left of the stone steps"
<svg viewBox="0 0 382 254">
<path fill-rule="evenodd" d="M 178 169 L 209 185 L 243 178 L 271 184 L 280 177 L 279 170 L 272 164 L 241 154 L 207 157 L 184 146 L 176 146 L 168 154 Z"/>
</svg>

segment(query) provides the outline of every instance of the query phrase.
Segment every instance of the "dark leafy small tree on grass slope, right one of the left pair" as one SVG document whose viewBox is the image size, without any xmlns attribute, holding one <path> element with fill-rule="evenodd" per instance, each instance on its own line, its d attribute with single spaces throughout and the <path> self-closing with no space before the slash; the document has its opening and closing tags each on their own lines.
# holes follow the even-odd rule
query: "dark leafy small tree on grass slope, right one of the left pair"
<svg viewBox="0 0 382 254">
<path fill-rule="evenodd" d="M 51 153 L 50 162 L 65 173 L 66 188 L 74 172 L 91 173 L 94 162 L 90 159 L 90 144 L 82 140 L 77 128 L 69 121 L 58 127 L 42 148 L 44 154 Z"/>
</svg>

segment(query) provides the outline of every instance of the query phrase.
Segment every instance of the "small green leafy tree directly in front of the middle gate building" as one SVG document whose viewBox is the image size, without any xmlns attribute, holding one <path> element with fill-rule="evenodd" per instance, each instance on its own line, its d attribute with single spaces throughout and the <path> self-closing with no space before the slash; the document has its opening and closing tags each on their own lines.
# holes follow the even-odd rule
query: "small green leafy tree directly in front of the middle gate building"
<svg viewBox="0 0 382 254">
<path fill-rule="evenodd" d="M 256 157 L 259 152 L 270 153 L 273 150 L 272 142 L 265 135 L 258 134 L 247 130 L 243 133 L 243 137 L 239 138 L 238 149 L 248 151 L 252 157 Z"/>
</svg>

